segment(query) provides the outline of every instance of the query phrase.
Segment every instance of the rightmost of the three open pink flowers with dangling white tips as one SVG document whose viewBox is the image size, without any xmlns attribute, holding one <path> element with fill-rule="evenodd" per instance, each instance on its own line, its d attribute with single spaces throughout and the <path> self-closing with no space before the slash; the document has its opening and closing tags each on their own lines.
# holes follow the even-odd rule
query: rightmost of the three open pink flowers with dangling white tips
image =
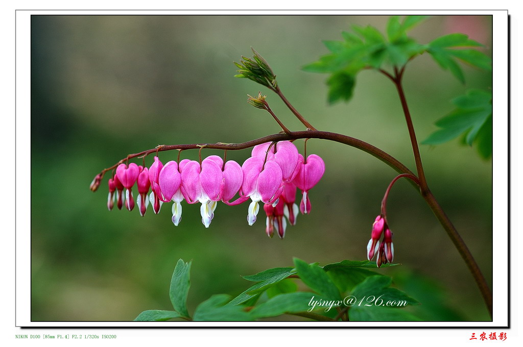
<svg viewBox="0 0 523 347">
<path fill-rule="evenodd" d="M 264 165 L 263 159 L 251 157 L 243 163 L 242 171 L 243 184 L 240 196 L 243 198 L 248 196 L 252 200 L 247 222 L 253 225 L 259 211 L 258 202 L 274 204 L 283 191 L 281 168 L 275 161 L 267 160 Z"/>
</svg>

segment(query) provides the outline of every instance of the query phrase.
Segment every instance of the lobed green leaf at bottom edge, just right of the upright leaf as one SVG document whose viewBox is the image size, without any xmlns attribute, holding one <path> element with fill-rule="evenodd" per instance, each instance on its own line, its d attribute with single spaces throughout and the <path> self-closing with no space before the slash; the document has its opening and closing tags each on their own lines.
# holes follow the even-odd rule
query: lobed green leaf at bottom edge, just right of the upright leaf
<svg viewBox="0 0 523 347">
<path fill-rule="evenodd" d="M 245 321 L 253 317 L 244 311 L 244 306 L 224 306 L 231 299 L 226 294 L 213 295 L 196 307 L 195 321 Z"/>
</svg>

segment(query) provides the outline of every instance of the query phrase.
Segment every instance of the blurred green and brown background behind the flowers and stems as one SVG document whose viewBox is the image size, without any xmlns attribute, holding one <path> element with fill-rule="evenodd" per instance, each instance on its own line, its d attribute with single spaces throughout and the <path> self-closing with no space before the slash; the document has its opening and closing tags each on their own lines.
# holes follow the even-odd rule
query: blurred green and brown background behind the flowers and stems
<svg viewBox="0 0 523 347">
<path fill-rule="evenodd" d="M 199 204 L 183 205 L 175 227 L 170 204 L 141 217 L 113 210 L 107 178 L 89 183 L 129 153 L 158 144 L 243 142 L 278 132 L 268 113 L 249 106 L 261 90 L 291 130 L 302 125 L 274 94 L 233 78 L 254 47 L 271 65 L 287 98 L 316 128 L 360 138 L 414 169 L 412 149 L 393 84 L 375 71 L 358 75 L 349 103 L 327 105 L 327 75 L 300 67 L 327 54 L 321 40 L 339 40 L 351 25 L 385 28 L 386 16 L 32 16 L 31 17 L 31 319 L 132 320 L 146 309 L 169 309 L 176 261 L 192 260 L 189 312 L 212 294 L 239 294 L 240 275 L 292 264 L 366 259 L 372 222 L 396 172 L 352 147 L 322 140 L 308 153 L 325 160 L 311 190 L 312 213 L 286 238 L 265 235 L 265 215 L 246 222 L 247 205 L 220 204 L 209 229 Z M 435 16 L 411 36 L 420 43 L 464 32 L 491 54 L 490 16 Z M 491 76 L 464 67 L 467 86 L 425 54 L 406 69 L 404 86 L 418 141 L 452 110 L 450 99 Z M 302 141 L 296 144 L 303 151 Z M 459 140 L 420 148 L 431 190 L 492 285 L 492 161 Z M 302 152 L 303 153 L 303 152 Z M 220 151 L 204 150 L 203 155 Z M 240 164 L 250 151 L 229 152 Z M 160 154 L 165 163 L 177 152 Z M 182 158 L 197 158 L 197 151 Z M 152 163 L 152 156 L 146 164 Z M 141 159 L 137 161 L 141 164 Z M 136 193 L 135 193 L 136 194 Z M 444 229 L 406 181 L 391 192 L 388 219 L 395 261 L 382 269 L 430 277 L 446 305 L 466 320 L 487 320 L 479 290 Z M 405 284 L 406 283 L 406 284 Z M 436 284 L 435 284 L 436 285 Z M 428 303 L 427 303 L 428 307 Z M 437 310 L 437 309 L 436 309 Z M 440 319 L 437 314 L 425 319 Z M 490 319 L 489 319 L 490 320 Z"/>
</svg>

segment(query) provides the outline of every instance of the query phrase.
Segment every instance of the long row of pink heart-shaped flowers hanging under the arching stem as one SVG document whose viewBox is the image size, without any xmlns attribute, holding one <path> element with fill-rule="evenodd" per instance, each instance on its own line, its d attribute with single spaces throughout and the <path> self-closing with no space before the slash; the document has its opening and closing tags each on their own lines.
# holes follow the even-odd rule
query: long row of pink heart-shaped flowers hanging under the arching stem
<svg viewBox="0 0 523 347">
<path fill-rule="evenodd" d="M 184 159 L 163 165 L 156 156 L 150 168 L 120 164 L 116 175 L 109 179 L 107 207 L 112 210 L 116 202 L 118 209 L 125 205 L 131 211 L 135 204 L 131 188 L 136 183 L 140 195 L 136 204 L 142 216 L 149 204 L 157 214 L 162 203 L 173 201 L 172 220 L 177 226 L 181 220 L 181 202 L 185 199 L 189 204 L 201 203 L 202 223 L 209 227 L 219 201 L 237 205 L 251 199 L 248 224 L 256 222 L 261 201 L 267 215 L 267 235 L 272 237 L 276 230 L 283 238 L 287 226 L 283 216 L 295 225 L 298 210 L 310 213 L 309 190 L 322 178 L 325 164 L 315 154 L 305 160 L 289 141 L 257 145 L 251 154 L 242 166 L 234 160 L 224 163 L 216 155 L 203 159 L 201 164 Z M 294 203 L 297 188 L 303 194 L 299 209 Z M 237 193 L 239 198 L 231 202 Z"/>
</svg>

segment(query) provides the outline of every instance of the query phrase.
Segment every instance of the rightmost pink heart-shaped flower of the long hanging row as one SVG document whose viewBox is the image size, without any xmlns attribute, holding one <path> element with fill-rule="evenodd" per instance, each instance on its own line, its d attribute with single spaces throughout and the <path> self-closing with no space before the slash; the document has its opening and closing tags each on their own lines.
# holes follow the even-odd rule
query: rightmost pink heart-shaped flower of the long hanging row
<svg viewBox="0 0 523 347">
<path fill-rule="evenodd" d="M 309 190 L 320 181 L 323 173 L 325 173 L 325 163 L 320 156 L 315 154 L 308 156 L 305 162 L 300 154 L 298 166 L 298 175 L 294 177 L 292 183 L 302 191 L 303 198 L 300 203 L 300 211 L 305 214 L 311 212 L 311 202 L 308 199 Z"/>
</svg>

